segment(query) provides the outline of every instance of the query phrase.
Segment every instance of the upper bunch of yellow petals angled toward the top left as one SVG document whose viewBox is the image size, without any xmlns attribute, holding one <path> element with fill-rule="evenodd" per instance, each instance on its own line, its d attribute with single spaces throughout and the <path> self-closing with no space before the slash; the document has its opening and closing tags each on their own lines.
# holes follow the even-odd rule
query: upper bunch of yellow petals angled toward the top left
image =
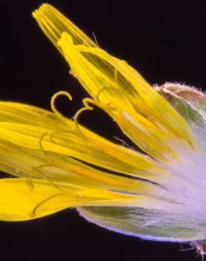
<svg viewBox="0 0 206 261">
<path fill-rule="evenodd" d="M 110 56 L 48 4 L 33 13 L 47 37 L 90 93 L 143 151 L 157 159 L 176 157 L 171 141 L 193 144 L 186 121 L 125 61 Z"/>
</svg>

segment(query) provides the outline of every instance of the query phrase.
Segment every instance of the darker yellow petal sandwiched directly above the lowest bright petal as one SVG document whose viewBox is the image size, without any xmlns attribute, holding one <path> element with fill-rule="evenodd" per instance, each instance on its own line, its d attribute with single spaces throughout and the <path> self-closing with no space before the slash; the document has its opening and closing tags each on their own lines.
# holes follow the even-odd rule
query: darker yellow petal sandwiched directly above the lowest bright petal
<svg viewBox="0 0 206 261">
<path fill-rule="evenodd" d="M 50 159 L 50 161 L 48 160 Z M 55 187 L 56 182 L 73 187 L 85 186 L 124 193 L 157 195 L 159 188 L 152 183 L 134 180 L 99 171 L 83 162 L 62 154 L 49 153 L 48 158 L 41 150 L 31 150 L 11 142 L 0 143 L 0 170 L 13 176 L 27 177 L 32 186 L 33 179 L 43 179 Z"/>
</svg>

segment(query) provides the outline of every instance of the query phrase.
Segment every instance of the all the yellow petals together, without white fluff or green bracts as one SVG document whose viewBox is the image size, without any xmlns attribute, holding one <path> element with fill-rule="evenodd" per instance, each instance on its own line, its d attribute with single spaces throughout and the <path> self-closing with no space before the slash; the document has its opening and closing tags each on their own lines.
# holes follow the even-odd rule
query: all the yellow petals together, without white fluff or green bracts
<svg viewBox="0 0 206 261">
<path fill-rule="evenodd" d="M 188 209 L 172 195 L 186 181 L 173 174 L 193 135 L 186 121 L 131 66 L 99 49 L 48 4 L 33 13 L 40 27 L 92 98 L 66 119 L 26 104 L 0 102 L 0 219 L 35 219 L 68 207 L 126 207 L 178 216 Z M 143 154 L 117 145 L 78 124 L 97 106 L 106 111 Z M 167 167 L 165 167 L 167 166 Z M 168 186 L 171 182 L 171 190 Z M 176 187 L 177 186 L 177 187 Z M 149 213 L 149 212 L 148 212 Z"/>
</svg>

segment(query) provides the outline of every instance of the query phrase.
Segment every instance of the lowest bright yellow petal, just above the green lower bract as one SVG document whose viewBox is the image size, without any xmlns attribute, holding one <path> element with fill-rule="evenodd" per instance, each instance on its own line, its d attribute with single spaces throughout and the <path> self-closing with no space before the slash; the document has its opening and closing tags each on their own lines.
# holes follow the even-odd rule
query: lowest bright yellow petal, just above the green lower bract
<svg viewBox="0 0 206 261">
<path fill-rule="evenodd" d="M 44 217 L 68 207 L 78 206 L 126 206 L 166 207 L 163 202 L 144 195 L 128 195 L 107 190 L 73 188 L 63 183 L 57 190 L 46 181 L 35 179 L 32 188 L 27 178 L 0 180 L 0 220 L 21 221 Z"/>
</svg>

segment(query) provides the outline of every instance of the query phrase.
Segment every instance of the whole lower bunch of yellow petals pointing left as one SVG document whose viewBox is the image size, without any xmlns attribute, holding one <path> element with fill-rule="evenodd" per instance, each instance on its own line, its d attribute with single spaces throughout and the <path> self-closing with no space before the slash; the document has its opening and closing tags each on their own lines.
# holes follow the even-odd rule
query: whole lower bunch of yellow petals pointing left
<svg viewBox="0 0 206 261">
<path fill-rule="evenodd" d="M 164 189 L 153 183 L 171 178 L 167 171 L 83 126 L 80 135 L 75 123 L 62 117 L 0 102 L 0 170 L 18 177 L 0 181 L 1 220 L 35 219 L 80 206 L 170 209 L 168 193 L 160 199 Z"/>
</svg>

